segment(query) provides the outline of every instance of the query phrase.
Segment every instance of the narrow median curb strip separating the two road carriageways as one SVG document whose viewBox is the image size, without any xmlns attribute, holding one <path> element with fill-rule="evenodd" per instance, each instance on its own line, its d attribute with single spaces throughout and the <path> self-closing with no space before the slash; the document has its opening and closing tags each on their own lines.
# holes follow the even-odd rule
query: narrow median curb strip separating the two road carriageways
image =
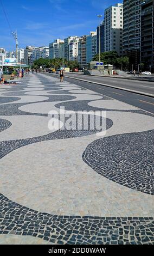
<svg viewBox="0 0 154 256">
<path fill-rule="evenodd" d="M 137 93 L 137 94 L 141 94 L 141 95 L 145 95 L 145 96 L 149 96 L 149 97 L 154 97 L 154 94 L 143 93 L 143 92 L 139 92 L 138 90 L 130 90 L 130 89 L 126 89 L 126 88 L 121 88 L 121 87 L 116 87 L 116 86 L 110 86 L 110 85 L 108 85 L 108 84 L 103 84 L 103 83 L 98 83 L 98 82 L 92 82 L 92 81 L 88 81 L 88 80 L 82 80 L 81 78 L 76 78 L 76 77 L 70 77 L 70 76 L 65 76 L 65 77 L 67 77 L 67 78 L 72 78 L 72 79 L 79 80 L 79 81 L 88 82 L 88 83 L 99 84 L 99 86 L 106 86 L 106 87 L 111 87 L 111 88 L 115 88 L 115 89 L 125 90 L 126 92 L 130 92 L 130 93 Z"/>
</svg>

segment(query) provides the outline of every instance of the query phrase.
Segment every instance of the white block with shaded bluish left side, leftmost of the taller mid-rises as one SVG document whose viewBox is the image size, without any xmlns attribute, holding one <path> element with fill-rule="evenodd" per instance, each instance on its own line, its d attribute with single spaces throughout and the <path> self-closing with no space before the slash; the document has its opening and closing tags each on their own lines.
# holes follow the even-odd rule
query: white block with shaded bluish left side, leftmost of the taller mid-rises
<svg viewBox="0 0 154 256">
<path fill-rule="evenodd" d="M 50 59 L 61 58 L 60 52 L 62 53 L 62 44 L 64 45 L 64 40 L 61 40 L 61 39 L 56 39 L 49 44 L 49 58 Z"/>
</svg>

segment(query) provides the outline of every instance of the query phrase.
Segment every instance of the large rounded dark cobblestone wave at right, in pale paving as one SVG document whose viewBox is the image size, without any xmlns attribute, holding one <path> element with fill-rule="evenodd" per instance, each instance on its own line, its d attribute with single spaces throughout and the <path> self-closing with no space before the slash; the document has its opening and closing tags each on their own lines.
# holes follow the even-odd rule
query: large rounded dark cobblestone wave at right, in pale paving
<svg viewBox="0 0 154 256">
<path fill-rule="evenodd" d="M 82 159 L 105 178 L 154 194 L 154 130 L 101 138 L 86 148 Z"/>
</svg>

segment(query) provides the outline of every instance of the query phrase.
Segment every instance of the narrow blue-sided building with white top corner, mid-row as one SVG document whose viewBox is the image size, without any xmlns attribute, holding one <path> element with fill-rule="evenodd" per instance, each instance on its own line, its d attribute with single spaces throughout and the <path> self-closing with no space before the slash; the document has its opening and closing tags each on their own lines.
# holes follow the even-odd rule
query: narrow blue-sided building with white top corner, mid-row
<svg viewBox="0 0 154 256">
<path fill-rule="evenodd" d="M 86 63 L 91 62 L 95 54 L 97 54 L 97 32 L 91 32 L 86 37 Z"/>
</svg>

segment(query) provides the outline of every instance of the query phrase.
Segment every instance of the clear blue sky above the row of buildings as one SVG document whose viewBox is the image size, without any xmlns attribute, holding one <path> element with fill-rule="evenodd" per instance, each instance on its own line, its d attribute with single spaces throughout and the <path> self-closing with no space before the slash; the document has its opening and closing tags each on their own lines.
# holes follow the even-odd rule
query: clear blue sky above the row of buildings
<svg viewBox="0 0 154 256">
<path fill-rule="evenodd" d="M 17 29 L 20 47 L 48 46 L 56 38 L 85 35 L 95 31 L 98 14 L 112 4 L 107 0 L 0 0 L 0 47 L 15 49 L 1 1 L 12 31 Z"/>
</svg>

